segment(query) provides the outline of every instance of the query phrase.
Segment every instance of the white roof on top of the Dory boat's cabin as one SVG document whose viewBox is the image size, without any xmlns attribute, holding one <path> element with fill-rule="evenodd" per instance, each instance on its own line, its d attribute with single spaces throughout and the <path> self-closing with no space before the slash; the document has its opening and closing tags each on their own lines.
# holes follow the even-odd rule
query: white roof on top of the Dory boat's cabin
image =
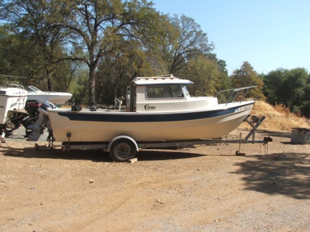
<svg viewBox="0 0 310 232">
<path fill-rule="evenodd" d="M 194 84 L 189 80 L 181 79 L 180 77 L 174 77 L 172 74 L 163 76 L 151 76 L 151 77 L 135 77 L 130 84 L 135 85 L 176 85 L 176 84 Z"/>
</svg>

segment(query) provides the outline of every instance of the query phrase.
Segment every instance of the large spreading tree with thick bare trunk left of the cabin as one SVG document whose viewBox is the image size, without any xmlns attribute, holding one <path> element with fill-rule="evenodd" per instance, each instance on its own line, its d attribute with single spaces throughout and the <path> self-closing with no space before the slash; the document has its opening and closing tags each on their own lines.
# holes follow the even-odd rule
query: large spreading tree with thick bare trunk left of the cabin
<svg viewBox="0 0 310 232">
<path fill-rule="evenodd" d="M 89 102 L 95 101 L 95 76 L 100 60 L 126 40 L 145 43 L 155 33 L 158 13 L 145 0 L 72 0 L 72 20 L 63 25 L 76 36 L 72 46 L 82 47 L 86 56 L 74 57 L 89 67 Z M 153 33 L 149 33 L 149 32 Z"/>
</svg>

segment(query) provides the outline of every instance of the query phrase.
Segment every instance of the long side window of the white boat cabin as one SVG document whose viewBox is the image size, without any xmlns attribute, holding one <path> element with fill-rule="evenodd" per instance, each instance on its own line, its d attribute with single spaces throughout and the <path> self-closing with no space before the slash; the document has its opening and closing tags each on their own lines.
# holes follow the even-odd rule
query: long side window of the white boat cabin
<svg viewBox="0 0 310 232">
<path fill-rule="evenodd" d="M 148 99 L 184 98 L 184 94 L 181 86 L 148 86 L 146 97 Z"/>
</svg>

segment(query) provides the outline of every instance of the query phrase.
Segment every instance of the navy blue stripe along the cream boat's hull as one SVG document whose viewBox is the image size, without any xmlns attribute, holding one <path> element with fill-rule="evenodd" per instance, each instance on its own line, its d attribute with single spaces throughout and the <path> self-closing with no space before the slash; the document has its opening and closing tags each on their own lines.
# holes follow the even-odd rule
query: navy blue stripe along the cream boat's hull
<svg viewBox="0 0 310 232">
<path fill-rule="evenodd" d="M 242 105 L 242 107 L 252 105 L 253 103 Z M 188 113 L 171 113 L 171 114 L 93 114 L 93 113 L 72 113 L 57 112 L 58 115 L 69 118 L 71 121 L 93 121 L 93 122 L 171 122 L 197 120 L 232 114 L 241 106 L 235 106 L 229 109 L 188 112 Z"/>
</svg>

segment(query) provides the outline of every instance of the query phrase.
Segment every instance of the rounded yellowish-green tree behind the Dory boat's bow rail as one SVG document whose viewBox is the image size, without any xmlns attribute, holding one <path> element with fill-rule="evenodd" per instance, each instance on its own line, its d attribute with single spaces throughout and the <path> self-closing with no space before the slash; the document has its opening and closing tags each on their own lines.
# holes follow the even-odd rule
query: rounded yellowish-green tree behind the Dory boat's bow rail
<svg viewBox="0 0 310 232">
<path fill-rule="evenodd" d="M 244 61 L 240 69 L 233 71 L 231 79 L 233 87 L 257 86 L 250 89 L 248 97 L 261 97 L 262 100 L 265 100 L 265 96 L 263 95 L 263 80 L 259 78 L 259 75 L 254 71 L 248 61 Z"/>
</svg>

